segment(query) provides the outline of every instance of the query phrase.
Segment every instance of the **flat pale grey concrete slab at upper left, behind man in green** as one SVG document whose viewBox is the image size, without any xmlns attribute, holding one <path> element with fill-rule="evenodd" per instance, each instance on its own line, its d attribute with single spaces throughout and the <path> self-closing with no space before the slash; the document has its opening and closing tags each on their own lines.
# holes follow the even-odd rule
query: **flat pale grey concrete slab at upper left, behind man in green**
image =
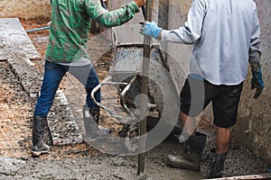
<svg viewBox="0 0 271 180">
<path fill-rule="evenodd" d="M 25 54 L 30 59 L 41 59 L 18 18 L 0 18 L 0 59 L 14 54 Z"/>
</svg>

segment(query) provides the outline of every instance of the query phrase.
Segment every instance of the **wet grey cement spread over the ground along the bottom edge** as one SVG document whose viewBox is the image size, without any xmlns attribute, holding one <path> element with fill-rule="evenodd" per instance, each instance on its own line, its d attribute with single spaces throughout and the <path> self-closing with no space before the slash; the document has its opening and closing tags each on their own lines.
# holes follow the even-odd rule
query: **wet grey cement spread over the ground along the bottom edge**
<svg viewBox="0 0 271 180">
<path fill-rule="evenodd" d="M 212 138 L 209 136 L 209 140 Z M 41 159 L 22 157 L 5 159 L 0 164 L 0 179 L 122 179 L 122 180 L 197 180 L 208 172 L 208 151 L 205 148 L 201 163 L 201 173 L 181 170 L 164 165 L 166 155 L 178 153 L 176 139 L 166 139 L 162 144 L 146 154 L 145 175 L 137 176 L 137 157 L 78 157 L 74 159 Z M 11 165 L 11 163 L 13 163 Z M 232 144 L 229 158 L 225 164 L 224 176 L 257 175 L 267 173 L 266 164 L 253 156 L 247 149 Z"/>
</svg>

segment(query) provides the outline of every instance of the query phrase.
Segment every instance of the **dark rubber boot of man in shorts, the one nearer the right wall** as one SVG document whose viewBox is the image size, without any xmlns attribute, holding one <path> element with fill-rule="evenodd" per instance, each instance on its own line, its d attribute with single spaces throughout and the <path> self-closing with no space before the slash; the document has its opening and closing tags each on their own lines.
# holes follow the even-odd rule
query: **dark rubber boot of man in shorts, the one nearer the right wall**
<svg viewBox="0 0 271 180">
<path fill-rule="evenodd" d="M 210 172 L 208 178 L 220 178 L 228 152 L 216 154 L 215 149 L 210 150 Z"/>
</svg>

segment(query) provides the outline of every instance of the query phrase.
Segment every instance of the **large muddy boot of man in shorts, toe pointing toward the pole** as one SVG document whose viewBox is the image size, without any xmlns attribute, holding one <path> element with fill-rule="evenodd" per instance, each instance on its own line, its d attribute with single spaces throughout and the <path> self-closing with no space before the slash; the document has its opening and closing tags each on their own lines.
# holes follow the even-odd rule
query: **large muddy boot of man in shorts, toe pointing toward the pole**
<svg viewBox="0 0 271 180">
<path fill-rule="evenodd" d="M 166 159 L 167 166 L 200 171 L 201 157 L 206 143 L 206 135 L 196 132 L 182 143 L 181 156 L 169 155 Z"/>
</svg>

